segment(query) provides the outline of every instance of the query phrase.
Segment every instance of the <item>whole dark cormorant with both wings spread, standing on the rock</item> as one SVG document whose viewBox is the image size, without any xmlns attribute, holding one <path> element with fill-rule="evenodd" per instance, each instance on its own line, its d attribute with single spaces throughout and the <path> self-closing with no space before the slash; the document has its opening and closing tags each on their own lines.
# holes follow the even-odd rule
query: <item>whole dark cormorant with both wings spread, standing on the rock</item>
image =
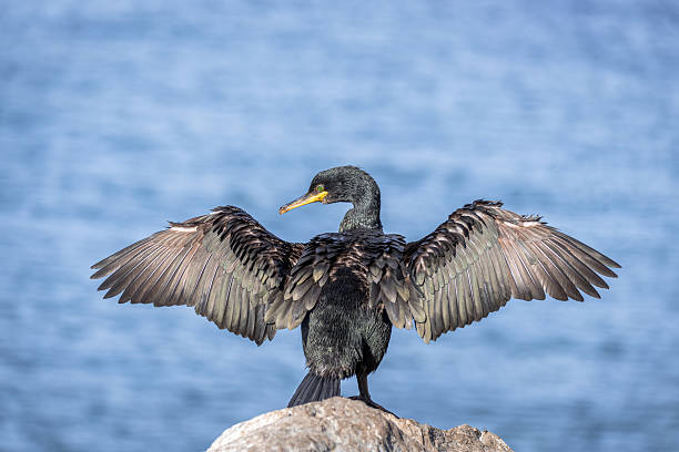
<svg viewBox="0 0 679 452">
<path fill-rule="evenodd" d="M 358 399 L 371 400 L 367 376 L 387 350 L 392 326 L 415 325 L 425 342 L 478 321 L 510 298 L 582 301 L 608 288 L 597 275 L 620 266 L 547 226 L 537 216 L 476 201 L 432 234 L 406 243 L 384 234 L 379 187 L 364 171 L 318 173 L 308 192 L 280 208 L 352 203 L 338 233 L 288 243 L 234 206 L 170 223 L 92 266 L 108 276 L 104 298 L 186 305 L 219 328 L 257 345 L 277 329 L 302 326 L 308 373 L 288 407 L 340 396 L 356 376 Z"/>
</svg>

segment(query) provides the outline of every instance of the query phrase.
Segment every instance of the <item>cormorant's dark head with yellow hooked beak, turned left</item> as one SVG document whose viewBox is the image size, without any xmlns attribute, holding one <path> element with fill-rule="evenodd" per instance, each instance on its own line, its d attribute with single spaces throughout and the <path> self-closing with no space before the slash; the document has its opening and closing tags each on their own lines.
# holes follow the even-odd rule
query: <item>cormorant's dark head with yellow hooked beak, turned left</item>
<svg viewBox="0 0 679 452">
<path fill-rule="evenodd" d="M 278 213 L 284 214 L 293 208 L 317 202 L 323 204 L 344 202 L 356 205 L 372 197 L 379 199 L 379 188 L 369 174 L 356 166 L 337 166 L 316 174 L 308 191 L 282 206 Z"/>
</svg>

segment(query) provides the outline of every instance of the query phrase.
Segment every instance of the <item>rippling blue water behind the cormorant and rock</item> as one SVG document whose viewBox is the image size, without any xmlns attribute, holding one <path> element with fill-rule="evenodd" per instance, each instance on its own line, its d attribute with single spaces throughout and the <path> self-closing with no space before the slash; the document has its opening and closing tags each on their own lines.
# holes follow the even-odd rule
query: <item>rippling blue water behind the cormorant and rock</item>
<svg viewBox="0 0 679 452">
<path fill-rule="evenodd" d="M 624 266 L 601 300 L 395 331 L 376 401 L 517 451 L 675 450 L 678 4 L 0 1 L 0 450 L 202 450 L 284 407 L 298 331 L 119 306 L 89 266 L 223 204 L 336 230 L 344 205 L 276 209 L 347 163 L 387 232 L 500 198 Z"/>
</svg>

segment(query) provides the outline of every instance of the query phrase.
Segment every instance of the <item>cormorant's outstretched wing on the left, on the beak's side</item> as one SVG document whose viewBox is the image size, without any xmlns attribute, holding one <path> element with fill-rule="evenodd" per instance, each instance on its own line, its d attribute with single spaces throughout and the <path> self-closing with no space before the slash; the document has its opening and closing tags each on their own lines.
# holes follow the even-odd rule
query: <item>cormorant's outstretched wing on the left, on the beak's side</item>
<svg viewBox="0 0 679 452">
<path fill-rule="evenodd" d="M 252 216 L 234 207 L 170 223 L 92 266 L 91 278 L 108 278 L 99 287 L 104 298 L 154 306 L 186 305 L 220 328 L 257 345 L 273 339 L 277 319 L 264 320 L 266 307 L 282 299 L 291 268 L 303 244 L 271 234 Z"/>
</svg>

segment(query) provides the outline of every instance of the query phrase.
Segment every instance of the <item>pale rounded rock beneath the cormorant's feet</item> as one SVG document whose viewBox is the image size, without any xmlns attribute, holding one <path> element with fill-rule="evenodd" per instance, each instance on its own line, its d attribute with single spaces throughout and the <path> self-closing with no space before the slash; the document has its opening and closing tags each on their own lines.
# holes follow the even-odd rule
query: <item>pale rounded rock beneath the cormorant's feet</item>
<svg viewBox="0 0 679 452">
<path fill-rule="evenodd" d="M 225 430 L 207 452 L 455 451 L 511 452 L 496 434 L 469 425 L 439 430 L 335 397 L 259 415 Z"/>
</svg>

